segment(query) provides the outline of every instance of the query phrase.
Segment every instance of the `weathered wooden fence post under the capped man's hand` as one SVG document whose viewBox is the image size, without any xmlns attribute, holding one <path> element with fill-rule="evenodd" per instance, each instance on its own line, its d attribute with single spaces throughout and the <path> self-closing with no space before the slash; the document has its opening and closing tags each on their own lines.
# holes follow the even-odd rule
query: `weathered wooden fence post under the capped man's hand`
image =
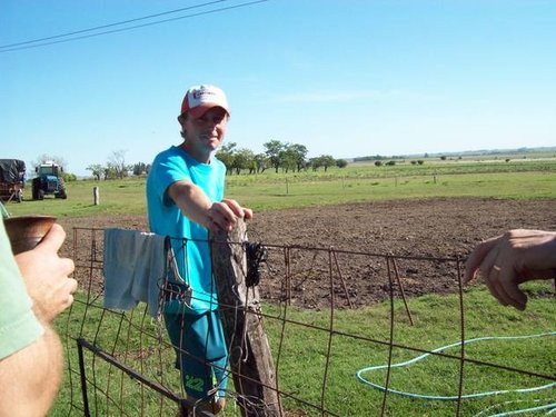
<svg viewBox="0 0 556 417">
<path fill-rule="evenodd" d="M 247 288 L 246 225 L 210 234 L 212 272 L 238 404 L 245 417 L 280 417 L 276 371 L 262 328 L 258 288 Z"/>
</svg>

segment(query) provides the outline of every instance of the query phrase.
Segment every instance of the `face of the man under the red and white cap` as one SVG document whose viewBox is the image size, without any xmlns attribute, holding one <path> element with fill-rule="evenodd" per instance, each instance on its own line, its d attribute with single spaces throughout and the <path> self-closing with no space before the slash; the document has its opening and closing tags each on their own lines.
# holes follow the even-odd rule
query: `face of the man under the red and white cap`
<svg viewBox="0 0 556 417">
<path fill-rule="evenodd" d="M 218 149 L 224 141 L 228 113 L 221 107 L 214 107 L 198 119 L 187 117 L 182 122 L 186 142 L 201 152 Z"/>
</svg>

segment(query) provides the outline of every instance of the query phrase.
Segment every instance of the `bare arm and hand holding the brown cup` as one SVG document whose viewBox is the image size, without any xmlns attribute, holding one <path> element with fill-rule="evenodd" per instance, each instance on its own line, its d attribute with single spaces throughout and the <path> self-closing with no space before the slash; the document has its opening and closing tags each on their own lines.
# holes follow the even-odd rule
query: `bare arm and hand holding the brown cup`
<svg viewBox="0 0 556 417">
<path fill-rule="evenodd" d="M 50 322 L 71 305 L 77 288 L 77 281 L 68 278 L 73 261 L 58 256 L 64 238 L 63 229 L 54 225 L 37 248 L 14 259 L 11 279 L 23 280 L 34 316 L 44 331 L 0 360 L 1 417 L 46 416 L 58 393 L 63 357 L 60 339 Z M 21 276 L 16 274 L 16 264 Z"/>
</svg>

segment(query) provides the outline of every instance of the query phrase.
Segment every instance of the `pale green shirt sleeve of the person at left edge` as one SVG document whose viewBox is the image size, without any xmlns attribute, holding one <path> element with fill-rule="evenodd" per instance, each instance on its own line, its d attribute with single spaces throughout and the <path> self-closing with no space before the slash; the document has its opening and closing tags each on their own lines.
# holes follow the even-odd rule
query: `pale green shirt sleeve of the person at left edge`
<svg viewBox="0 0 556 417">
<path fill-rule="evenodd" d="M 32 311 L 18 265 L 0 221 L 0 360 L 36 341 L 43 328 Z"/>
</svg>

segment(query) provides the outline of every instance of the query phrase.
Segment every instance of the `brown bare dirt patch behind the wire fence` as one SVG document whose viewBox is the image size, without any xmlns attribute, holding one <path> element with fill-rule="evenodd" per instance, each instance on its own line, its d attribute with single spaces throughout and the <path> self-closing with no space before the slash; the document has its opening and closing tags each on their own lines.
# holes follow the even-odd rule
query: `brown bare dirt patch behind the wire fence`
<svg viewBox="0 0 556 417">
<path fill-rule="evenodd" d="M 73 227 L 148 230 L 145 216 L 61 218 L 59 222 L 68 231 L 66 255 L 72 249 Z M 441 198 L 270 210 L 256 214 L 248 224 L 248 234 L 249 240 L 271 246 L 465 258 L 480 240 L 512 228 L 556 230 L 556 200 Z M 297 256 L 297 264 L 306 264 L 298 265 L 298 269 L 318 271 L 311 264 L 317 256 L 306 255 Z M 389 296 L 387 281 L 369 278 L 378 271 L 384 275 L 384 265 L 378 260 L 345 255 L 340 262 L 346 281 L 346 287 L 335 289 L 340 306 L 345 306 L 348 299 L 357 307 Z M 279 300 L 284 297 L 282 267 L 271 264 L 262 274 L 260 290 L 264 298 Z M 454 277 L 446 277 L 434 262 L 407 261 L 400 275 L 408 296 L 455 290 Z M 329 290 L 318 274 L 314 277 L 304 272 L 294 284 L 292 297 L 301 307 L 324 307 L 329 302 L 327 295 Z"/>
</svg>

